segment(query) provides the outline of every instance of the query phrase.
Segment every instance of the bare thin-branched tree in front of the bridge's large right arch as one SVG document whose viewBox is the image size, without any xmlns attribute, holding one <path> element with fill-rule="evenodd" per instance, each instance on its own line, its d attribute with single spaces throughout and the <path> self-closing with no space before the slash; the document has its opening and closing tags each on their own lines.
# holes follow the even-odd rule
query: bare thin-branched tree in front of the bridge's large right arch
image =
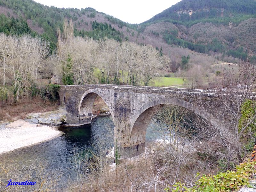
<svg viewBox="0 0 256 192">
<path fill-rule="evenodd" d="M 174 106 L 157 106 L 152 114 L 154 132 L 160 136 L 157 140 L 155 158 L 159 164 L 167 164 L 170 177 L 167 179 L 171 185 L 183 180 L 188 186 L 193 185 L 196 172 L 202 171 L 205 164 L 196 158 L 196 145 L 199 138 L 195 135 L 194 124 L 191 121 L 193 113 L 187 109 Z M 184 170 L 184 167 L 193 161 L 201 167 Z M 170 171 L 171 170 L 171 171 Z M 184 175 L 184 171 L 187 175 Z"/>
</svg>

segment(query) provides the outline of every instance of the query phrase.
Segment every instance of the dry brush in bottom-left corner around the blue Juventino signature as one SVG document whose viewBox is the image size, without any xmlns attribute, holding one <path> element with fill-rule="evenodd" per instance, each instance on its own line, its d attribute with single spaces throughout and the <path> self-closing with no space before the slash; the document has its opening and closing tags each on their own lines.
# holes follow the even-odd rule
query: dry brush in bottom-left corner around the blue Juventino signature
<svg viewBox="0 0 256 192">
<path fill-rule="evenodd" d="M 0 190 L 13 192 L 28 191 L 59 191 L 60 178 L 63 172 L 60 170 L 49 170 L 48 160 L 33 159 L 29 166 L 20 164 L 0 163 Z M 6 185 L 12 182 L 32 181 L 35 185 Z"/>
</svg>

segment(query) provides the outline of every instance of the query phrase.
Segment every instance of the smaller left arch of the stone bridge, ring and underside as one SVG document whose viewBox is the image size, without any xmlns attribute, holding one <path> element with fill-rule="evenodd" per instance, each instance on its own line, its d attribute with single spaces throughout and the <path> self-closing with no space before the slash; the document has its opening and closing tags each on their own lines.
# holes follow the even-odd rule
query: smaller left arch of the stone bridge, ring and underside
<svg viewBox="0 0 256 192">
<path fill-rule="evenodd" d="M 108 109 L 110 111 L 110 114 L 113 115 L 113 110 L 111 106 L 108 103 L 108 100 L 97 90 L 89 89 L 84 92 L 84 94 L 81 97 L 81 100 L 79 102 L 78 106 L 78 114 L 79 116 L 90 116 L 92 115 L 92 107 L 93 103 L 97 96 L 100 96 L 100 98 L 106 103 L 108 106 Z"/>
</svg>

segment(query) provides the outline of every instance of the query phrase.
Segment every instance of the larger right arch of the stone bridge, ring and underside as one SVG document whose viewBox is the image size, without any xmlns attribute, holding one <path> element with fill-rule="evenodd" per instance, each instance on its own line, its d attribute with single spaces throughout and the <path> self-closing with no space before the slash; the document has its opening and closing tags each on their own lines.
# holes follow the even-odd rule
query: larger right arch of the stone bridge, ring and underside
<svg viewBox="0 0 256 192">
<path fill-rule="evenodd" d="M 140 153 L 143 153 L 145 150 L 146 132 L 149 124 L 149 122 L 145 120 L 148 114 L 152 112 L 154 106 L 164 104 L 171 104 L 187 108 L 188 110 L 193 111 L 194 113 L 202 116 L 205 119 L 212 116 L 200 110 L 198 106 L 195 106 L 188 101 L 180 100 L 177 98 L 165 98 L 145 103 L 132 117 L 132 121 L 130 124 L 131 130 L 129 145 L 132 148 L 132 156 L 139 155 Z"/>
</svg>

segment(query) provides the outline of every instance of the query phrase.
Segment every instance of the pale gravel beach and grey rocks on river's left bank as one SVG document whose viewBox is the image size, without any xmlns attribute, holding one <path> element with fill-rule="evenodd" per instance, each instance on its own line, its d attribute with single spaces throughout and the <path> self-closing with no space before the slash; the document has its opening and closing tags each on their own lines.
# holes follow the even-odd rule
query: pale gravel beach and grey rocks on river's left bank
<svg viewBox="0 0 256 192">
<path fill-rule="evenodd" d="M 96 116 L 108 116 L 108 111 L 100 110 Z M 0 124 L 0 154 L 14 149 L 34 145 L 60 136 L 58 125 L 66 124 L 66 109 L 44 113 L 30 113 L 24 119 Z"/>
</svg>

